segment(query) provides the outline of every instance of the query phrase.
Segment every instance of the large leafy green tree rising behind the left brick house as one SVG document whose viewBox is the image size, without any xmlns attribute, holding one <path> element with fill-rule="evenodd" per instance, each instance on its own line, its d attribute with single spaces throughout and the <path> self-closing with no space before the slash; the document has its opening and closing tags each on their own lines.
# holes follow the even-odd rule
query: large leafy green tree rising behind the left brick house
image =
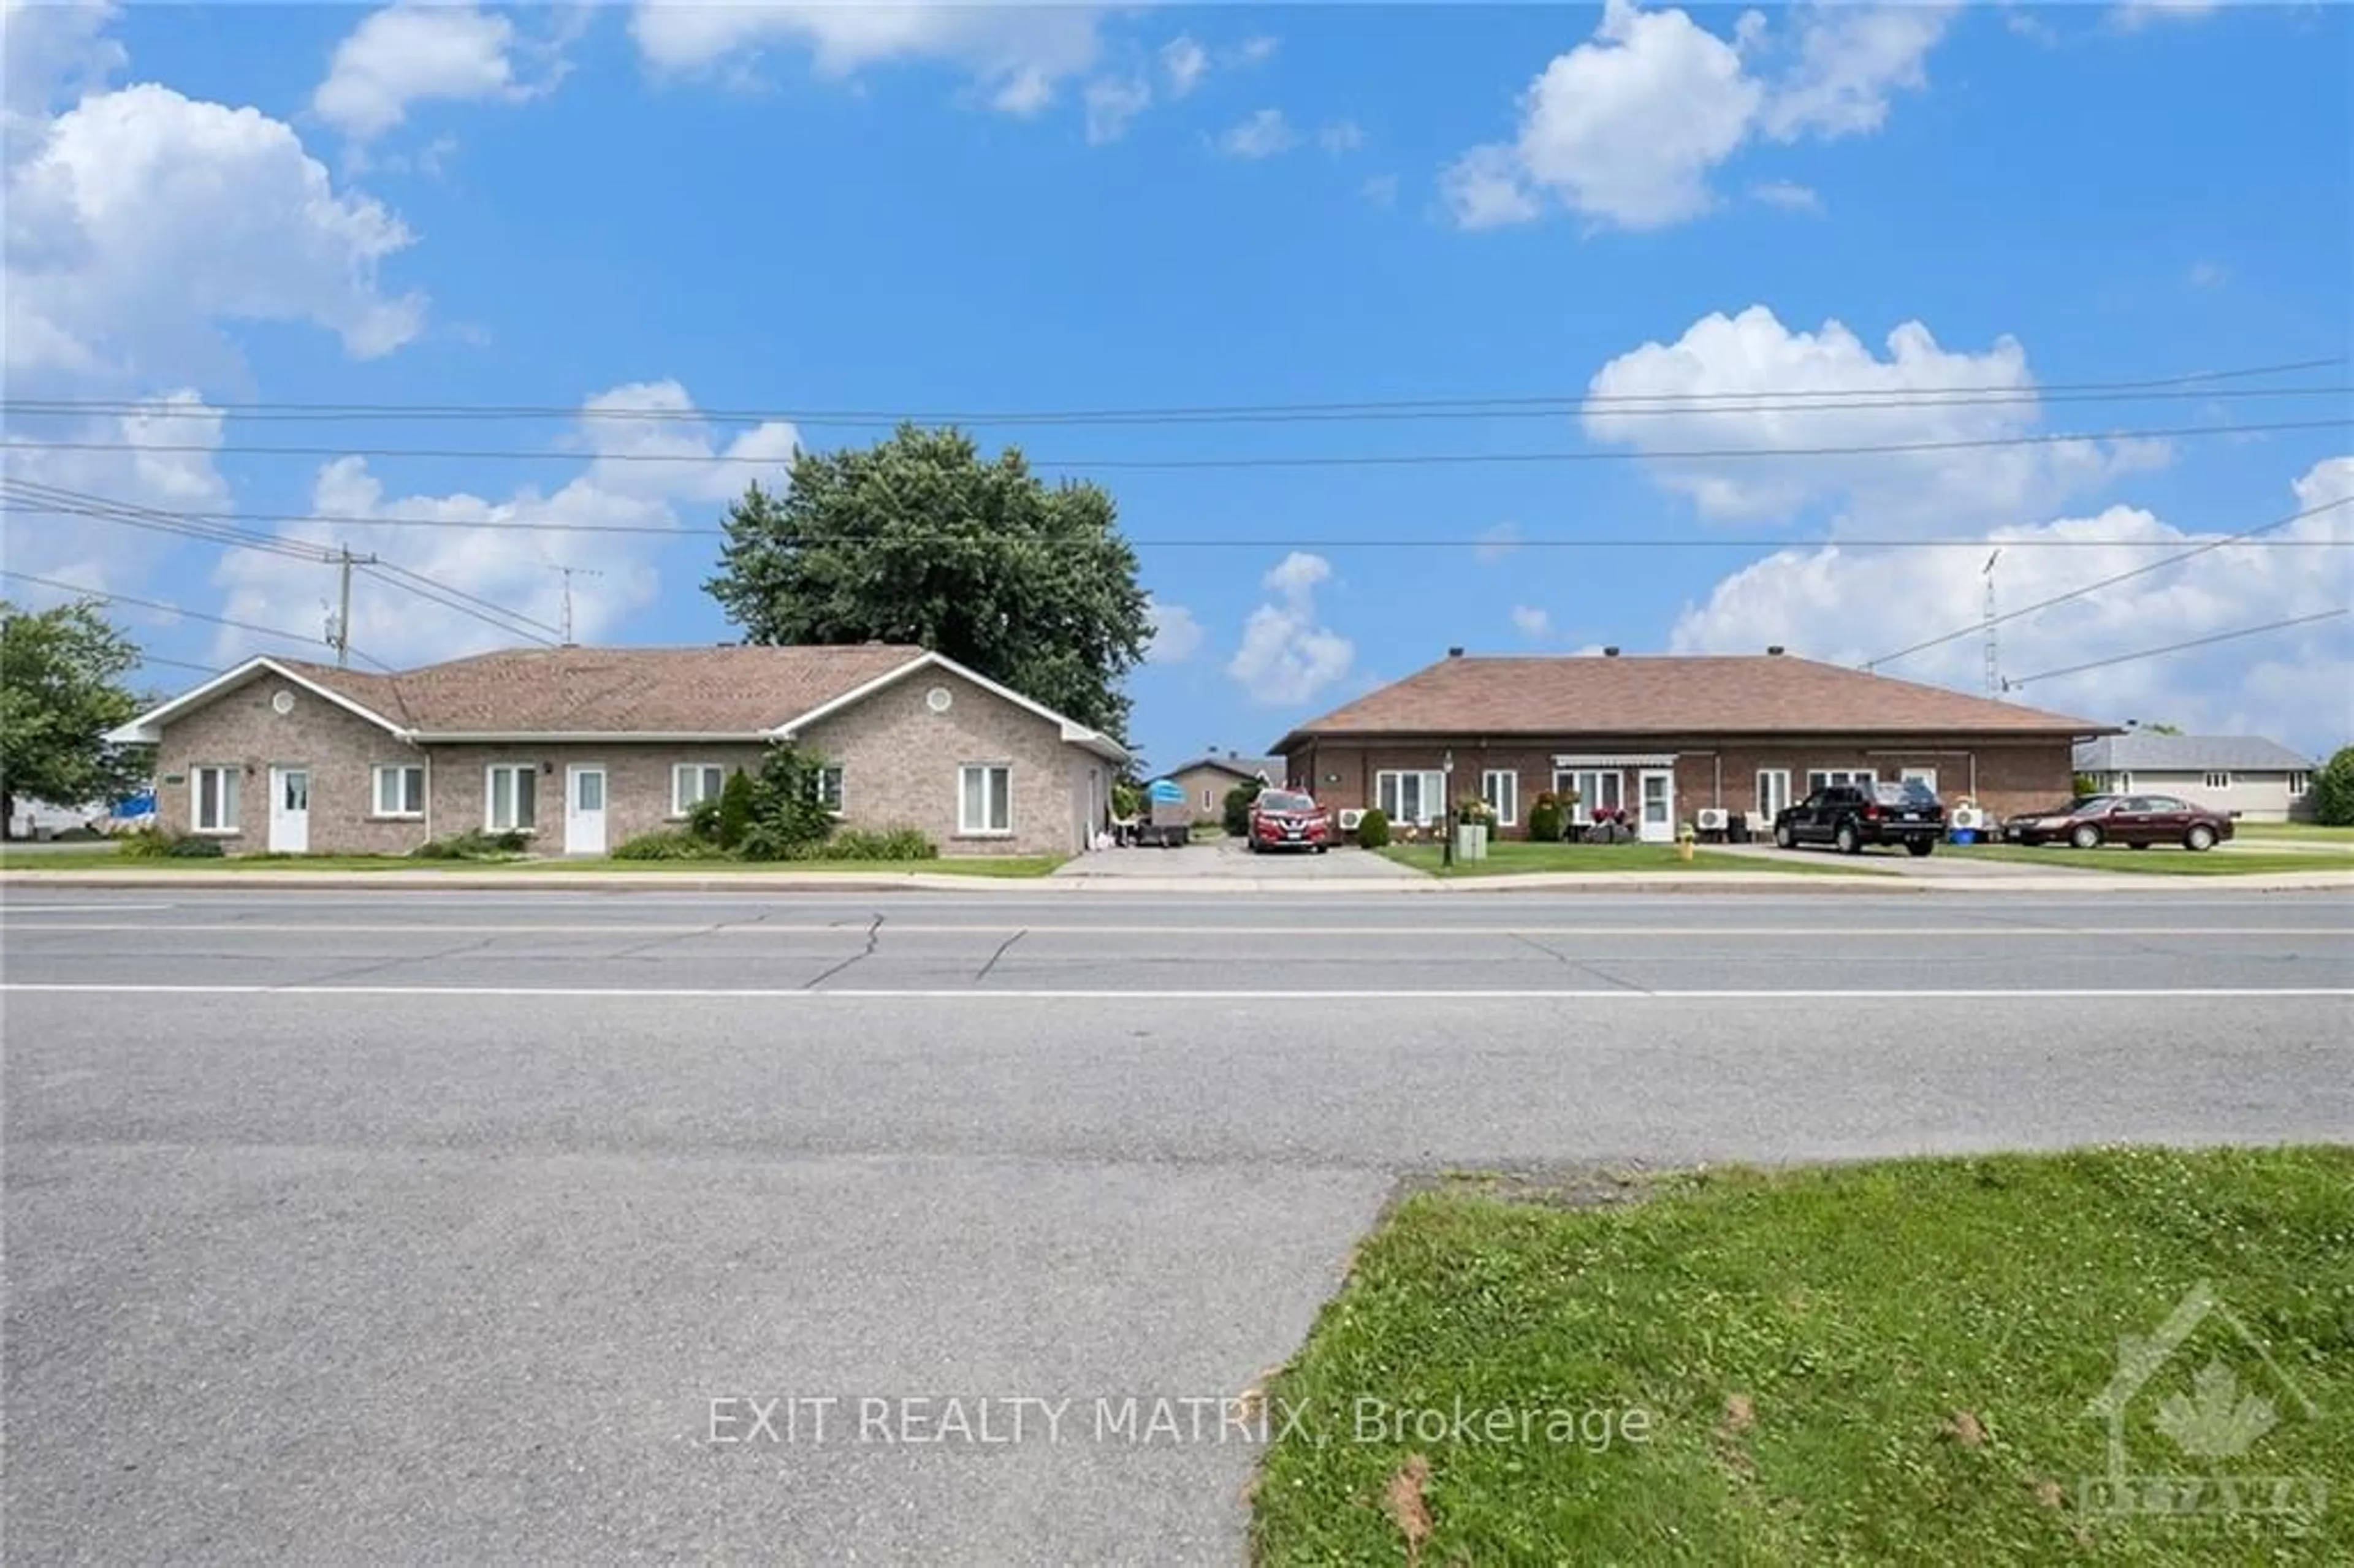
<svg viewBox="0 0 2354 1568">
<path fill-rule="evenodd" d="M 956 428 L 796 454 L 727 509 L 704 586 L 751 643 L 920 643 L 1113 737 L 1151 640 L 1111 497 Z"/>
</svg>

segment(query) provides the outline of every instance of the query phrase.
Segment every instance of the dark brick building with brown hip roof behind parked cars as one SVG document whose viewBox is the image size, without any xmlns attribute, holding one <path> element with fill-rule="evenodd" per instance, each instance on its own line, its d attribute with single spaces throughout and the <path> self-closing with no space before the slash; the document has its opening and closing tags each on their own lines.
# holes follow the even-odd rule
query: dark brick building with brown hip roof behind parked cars
<svg viewBox="0 0 2354 1568">
<path fill-rule="evenodd" d="M 1822 784 L 1930 782 L 1996 815 L 2067 798 L 2069 751 L 2114 727 L 1989 697 L 1766 655 L 1445 659 L 1281 742 L 1295 786 L 1330 808 L 1427 826 L 1485 798 L 1525 831 L 1542 791 L 1572 822 L 1624 812 L 1650 841 L 1702 810 L 1751 831 Z"/>
</svg>

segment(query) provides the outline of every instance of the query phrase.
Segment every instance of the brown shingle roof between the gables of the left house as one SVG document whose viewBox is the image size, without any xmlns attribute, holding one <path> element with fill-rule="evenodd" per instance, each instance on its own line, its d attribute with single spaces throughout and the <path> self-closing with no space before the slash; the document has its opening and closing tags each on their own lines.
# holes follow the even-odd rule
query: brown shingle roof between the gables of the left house
<svg viewBox="0 0 2354 1568">
<path fill-rule="evenodd" d="M 278 659 L 424 735 L 753 735 L 885 676 L 920 647 L 527 647 L 393 676 Z"/>
</svg>

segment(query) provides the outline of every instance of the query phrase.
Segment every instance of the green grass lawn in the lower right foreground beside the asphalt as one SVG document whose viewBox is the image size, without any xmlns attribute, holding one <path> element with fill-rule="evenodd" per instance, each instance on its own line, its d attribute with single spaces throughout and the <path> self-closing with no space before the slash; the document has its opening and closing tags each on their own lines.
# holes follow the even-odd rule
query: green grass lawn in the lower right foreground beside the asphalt
<svg viewBox="0 0 2354 1568">
<path fill-rule="evenodd" d="M 1262 1455 L 1257 1561 L 2354 1561 L 2354 1149 L 1725 1170 L 1631 1196 L 1398 1205 L 1266 1387 L 1274 1431 L 1297 1415 L 1306 1436 Z M 2302 1535 L 2088 1507 L 2109 1453 L 2088 1401 L 2199 1281 L 2279 1373 L 2210 1314 L 2128 1406 L 2126 1469 L 2319 1483 Z M 2274 1415 L 2260 1436 L 2248 1398 Z M 1401 1434 L 1401 1408 L 1443 1417 Z M 2234 1415 L 2239 1457 L 2168 1436 L 2229 1439 Z"/>
</svg>

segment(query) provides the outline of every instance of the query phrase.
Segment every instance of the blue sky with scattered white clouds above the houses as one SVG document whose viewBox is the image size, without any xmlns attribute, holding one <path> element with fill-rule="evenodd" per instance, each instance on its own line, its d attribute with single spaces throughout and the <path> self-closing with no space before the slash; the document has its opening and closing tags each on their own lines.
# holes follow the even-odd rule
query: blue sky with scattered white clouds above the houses
<svg viewBox="0 0 2354 1568">
<path fill-rule="evenodd" d="M 9 5 L 7 28 L 9 398 L 106 405 L 12 407 L 9 440 L 82 445 L 12 447 L 9 476 L 348 542 L 539 626 L 553 567 L 588 567 L 584 640 L 730 636 L 709 530 L 796 440 L 876 436 L 826 412 L 1488 400 L 977 428 L 1113 490 L 1163 617 L 1132 680 L 1158 763 L 1264 746 L 1448 645 L 1862 662 L 1975 622 L 1994 542 L 1999 603 L 2027 605 L 2354 494 L 2345 363 L 2072 391 L 2349 353 L 2342 7 Z M 2335 426 L 2246 428 L 2281 421 Z M 2159 428 L 2192 433 L 2126 436 Z M 2088 438 L 1806 454 L 2029 433 Z M 1653 457 L 1693 450 L 1756 457 Z M 1530 452 L 1561 457 L 1088 466 Z M 2345 607 L 2349 513 L 2008 622 L 2013 699 L 2342 744 L 2354 617 L 2039 676 Z M 21 504 L 7 553 L 301 636 L 334 584 Z M 162 659 L 306 655 L 122 614 Z M 360 582 L 367 657 L 508 640 Z M 1980 640 L 1888 669 L 1975 690 Z"/>
</svg>

